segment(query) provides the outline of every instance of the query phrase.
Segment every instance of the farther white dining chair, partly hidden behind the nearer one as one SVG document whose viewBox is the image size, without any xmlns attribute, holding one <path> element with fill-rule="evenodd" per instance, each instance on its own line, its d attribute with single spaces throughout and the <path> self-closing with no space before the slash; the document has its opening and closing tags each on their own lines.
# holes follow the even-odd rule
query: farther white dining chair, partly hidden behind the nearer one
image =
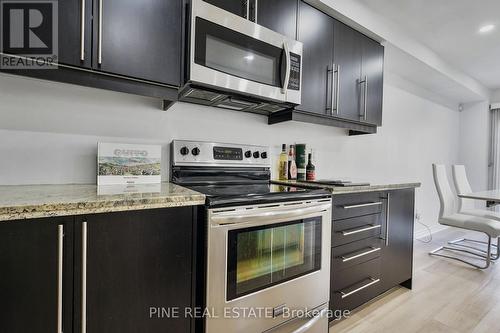
<svg viewBox="0 0 500 333">
<path fill-rule="evenodd" d="M 465 166 L 464 165 L 453 165 L 452 171 L 453 171 L 453 182 L 455 183 L 455 188 L 457 190 L 457 194 L 472 193 L 472 188 L 471 188 L 469 180 L 467 178 L 467 172 L 465 170 Z M 476 208 L 476 200 L 474 200 L 474 199 L 467 199 L 467 198 L 458 197 L 458 204 L 459 204 L 458 211 L 461 214 L 484 217 L 487 219 L 492 219 L 492 220 L 498 221 L 498 223 L 500 223 L 500 213 L 490 211 L 487 209 Z M 497 244 L 494 245 L 494 247 L 496 247 L 497 249 L 498 249 L 499 241 L 500 241 L 500 239 L 497 238 Z M 459 238 L 459 239 L 450 241 L 448 243 L 454 244 L 454 245 L 460 245 L 463 247 L 471 248 L 471 249 L 486 253 L 486 251 L 484 251 L 482 249 L 468 245 L 468 243 L 486 245 L 487 243 L 483 242 L 483 241 L 478 241 L 478 240 L 468 239 L 468 238 Z M 500 257 L 500 252 L 496 251 L 496 253 L 493 254 L 493 256 L 492 256 L 492 259 L 497 260 L 499 257 Z"/>
</svg>

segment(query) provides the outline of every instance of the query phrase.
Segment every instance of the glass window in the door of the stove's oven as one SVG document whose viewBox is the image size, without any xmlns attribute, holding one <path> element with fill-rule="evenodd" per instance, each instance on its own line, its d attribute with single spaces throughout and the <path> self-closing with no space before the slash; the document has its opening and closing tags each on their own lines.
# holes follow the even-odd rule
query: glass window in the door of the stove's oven
<svg viewBox="0 0 500 333">
<path fill-rule="evenodd" d="M 321 268 L 321 217 L 231 230 L 227 300 Z"/>
</svg>

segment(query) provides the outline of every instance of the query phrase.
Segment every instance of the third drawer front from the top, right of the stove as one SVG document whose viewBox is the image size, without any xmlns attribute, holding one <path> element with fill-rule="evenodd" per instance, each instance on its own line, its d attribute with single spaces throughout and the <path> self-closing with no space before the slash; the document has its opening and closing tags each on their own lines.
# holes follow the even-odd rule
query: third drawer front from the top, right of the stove
<svg viewBox="0 0 500 333">
<path fill-rule="evenodd" d="M 372 237 L 332 248 L 332 272 L 380 257 L 382 239 Z M 332 274 L 333 275 L 333 274 Z"/>
</svg>

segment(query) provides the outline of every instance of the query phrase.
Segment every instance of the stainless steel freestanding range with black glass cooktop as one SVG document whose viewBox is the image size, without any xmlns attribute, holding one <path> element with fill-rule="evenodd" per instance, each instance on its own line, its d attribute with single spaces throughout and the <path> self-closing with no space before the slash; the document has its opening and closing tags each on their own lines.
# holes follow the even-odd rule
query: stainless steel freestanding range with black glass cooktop
<svg viewBox="0 0 500 333">
<path fill-rule="evenodd" d="M 269 148 L 172 143 L 172 181 L 207 195 L 206 333 L 327 333 L 331 196 L 270 183 Z"/>
</svg>

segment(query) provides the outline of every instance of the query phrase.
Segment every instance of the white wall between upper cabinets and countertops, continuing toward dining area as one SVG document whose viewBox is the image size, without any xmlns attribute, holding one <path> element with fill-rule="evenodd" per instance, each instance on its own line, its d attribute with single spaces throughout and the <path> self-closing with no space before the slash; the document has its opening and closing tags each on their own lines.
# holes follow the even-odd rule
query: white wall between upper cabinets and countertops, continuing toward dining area
<svg viewBox="0 0 500 333">
<path fill-rule="evenodd" d="M 268 126 L 262 116 L 0 75 L 0 184 L 95 183 L 98 141 L 164 145 L 174 138 L 255 143 L 305 142 L 319 178 L 422 182 L 417 211 L 435 225 L 439 205 L 431 164 L 458 159 L 459 113 L 386 84 L 378 134 L 303 123 Z M 417 227 L 418 228 L 418 227 Z M 418 232 L 419 229 L 417 229 Z"/>
</svg>

